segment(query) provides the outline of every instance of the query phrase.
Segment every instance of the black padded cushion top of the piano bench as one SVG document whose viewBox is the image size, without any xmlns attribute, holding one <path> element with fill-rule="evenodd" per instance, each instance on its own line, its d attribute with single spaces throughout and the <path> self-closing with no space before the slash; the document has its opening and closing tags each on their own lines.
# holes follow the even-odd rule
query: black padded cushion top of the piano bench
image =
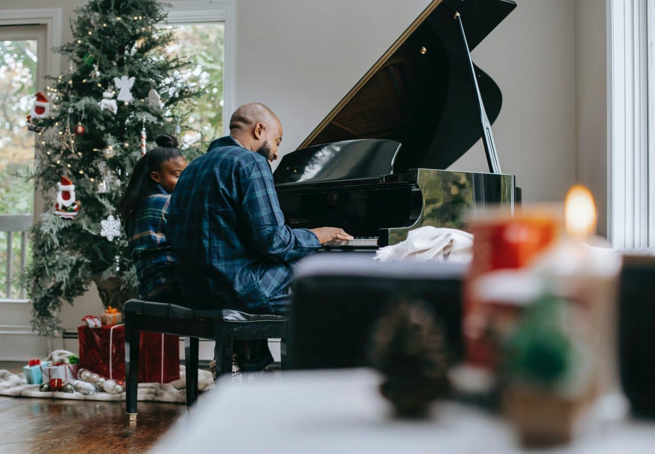
<svg viewBox="0 0 655 454">
<path fill-rule="evenodd" d="M 274 314 L 248 314 L 234 309 L 189 309 L 177 304 L 129 300 L 123 305 L 124 312 L 138 312 L 153 317 L 187 320 L 223 320 L 226 322 L 285 321 L 288 317 Z"/>
</svg>

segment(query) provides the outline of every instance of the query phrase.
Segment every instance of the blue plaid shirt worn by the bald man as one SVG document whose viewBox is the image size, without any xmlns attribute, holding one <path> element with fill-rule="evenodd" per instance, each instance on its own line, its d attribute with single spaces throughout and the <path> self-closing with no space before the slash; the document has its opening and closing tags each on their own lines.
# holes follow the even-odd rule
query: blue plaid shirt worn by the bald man
<svg viewBox="0 0 655 454">
<path fill-rule="evenodd" d="M 284 225 L 269 162 L 231 136 L 182 172 L 166 237 L 189 307 L 272 313 L 287 292 L 293 262 L 320 247 L 313 232 Z"/>
</svg>

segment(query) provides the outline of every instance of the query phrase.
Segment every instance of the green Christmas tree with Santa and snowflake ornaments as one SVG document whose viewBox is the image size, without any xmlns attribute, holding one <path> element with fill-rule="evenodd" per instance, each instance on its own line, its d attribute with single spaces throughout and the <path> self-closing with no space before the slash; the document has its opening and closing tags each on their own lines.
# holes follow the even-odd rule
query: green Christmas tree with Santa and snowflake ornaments
<svg viewBox="0 0 655 454">
<path fill-rule="evenodd" d="M 166 6 L 92 0 L 75 10 L 73 41 L 56 49 L 70 67 L 49 78 L 49 99 L 37 97 L 28 120 L 38 134 L 31 176 L 52 200 L 33 226 L 24 276 L 40 334 L 59 329 L 62 304 L 72 304 L 92 280 L 105 304 L 121 307 L 136 295 L 116 207 L 132 167 L 153 147 L 148 140 L 187 130 L 182 119 L 200 91 L 182 76 L 188 62 L 166 53 L 172 31 L 158 27 Z M 189 159 L 198 152 L 194 145 L 183 149 Z"/>
</svg>

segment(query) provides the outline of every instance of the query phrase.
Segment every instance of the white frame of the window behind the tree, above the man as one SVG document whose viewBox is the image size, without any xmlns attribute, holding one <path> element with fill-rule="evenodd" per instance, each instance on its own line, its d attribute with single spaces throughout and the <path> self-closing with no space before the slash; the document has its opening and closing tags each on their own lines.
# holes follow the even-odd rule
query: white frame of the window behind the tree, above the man
<svg viewBox="0 0 655 454">
<path fill-rule="evenodd" d="M 234 109 L 234 1 L 233 0 L 174 0 L 168 10 L 166 25 L 201 25 L 223 23 L 225 47 L 223 55 L 223 135 L 229 134 L 230 115 Z"/>
</svg>

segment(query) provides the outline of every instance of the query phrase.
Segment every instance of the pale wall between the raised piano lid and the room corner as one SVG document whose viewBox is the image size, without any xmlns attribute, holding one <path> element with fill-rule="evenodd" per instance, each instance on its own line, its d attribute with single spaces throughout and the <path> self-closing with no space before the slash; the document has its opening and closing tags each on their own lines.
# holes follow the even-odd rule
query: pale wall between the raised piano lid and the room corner
<svg viewBox="0 0 655 454">
<path fill-rule="evenodd" d="M 472 56 L 502 91 L 493 124 L 502 170 L 524 201 L 561 201 L 575 182 L 574 1 L 517 3 Z M 481 141 L 452 168 L 489 171 Z"/>
</svg>

